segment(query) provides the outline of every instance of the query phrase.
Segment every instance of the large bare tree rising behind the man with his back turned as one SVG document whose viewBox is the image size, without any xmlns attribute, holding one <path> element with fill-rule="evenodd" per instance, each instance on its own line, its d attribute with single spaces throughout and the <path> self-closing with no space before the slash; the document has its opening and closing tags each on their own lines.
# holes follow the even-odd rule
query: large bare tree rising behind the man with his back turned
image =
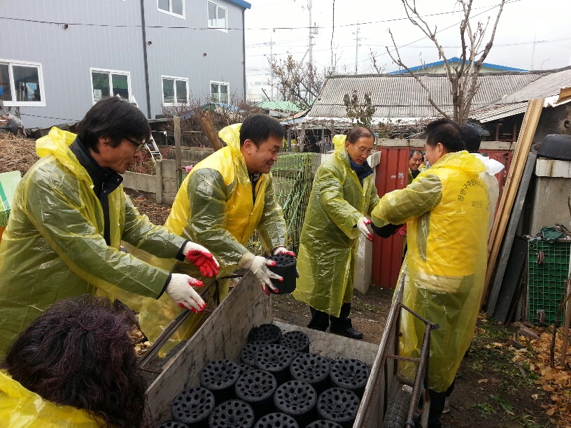
<svg viewBox="0 0 571 428">
<path fill-rule="evenodd" d="M 463 19 L 460 22 L 460 42 L 462 53 L 460 55 L 460 62 L 458 62 L 457 65 L 451 64 L 451 62 L 449 62 L 449 60 L 446 58 L 444 48 L 442 48 L 442 45 L 437 41 L 436 38 L 437 28 L 434 27 L 434 29 L 432 29 L 430 24 L 428 24 L 428 22 L 426 22 L 424 18 L 421 17 L 421 15 L 416 10 L 416 0 L 401 1 L 409 21 L 421 29 L 425 36 L 427 36 L 432 41 L 432 43 L 435 44 L 439 57 L 444 59 L 444 69 L 446 71 L 446 76 L 448 76 L 451 84 L 450 93 L 452 96 L 453 106 L 453 114 L 451 118 L 459 124 L 465 124 L 468 120 L 468 115 L 470 115 L 472 100 L 474 99 L 474 95 L 476 94 L 479 87 L 478 76 L 480 69 L 492 48 L 493 40 L 495 37 L 495 29 L 498 27 L 498 21 L 500 20 L 500 15 L 502 15 L 505 0 L 502 0 L 499 5 L 500 9 L 498 10 L 498 15 L 495 17 L 491 36 L 488 42 L 484 45 L 484 48 L 482 48 L 482 44 L 484 43 L 484 36 L 486 34 L 486 30 L 488 29 L 488 24 L 490 24 L 490 17 L 488 17 L 485 23 L 478 21 L 476 27 L 474 28 L 470 22 L 472 0 L 456 0 L 463 12 Z M 411 76 L 413 76 L 416 81 L 418 81 L 418 83 L 428 93 L 428 102 L 430 102 L 432 107 L 434 107 L 444 117 L 450 117 L 449 112 L 444 111 L 442 106 L 438 106 L 432 99 L 430 90 L 423 83 L 421 78 L 414 74 L 409 69 L 409 67 L 407 67 L 404 62 L 402 62 L 400 52 L 397 48 L 397 44 L 395 43 L 395 38 L 393 37 L 393 33 L 390 31 L 390 29 L 389 34 L 391 40 L 393 41 L 394 47 L 393 55 L 393 52 L 391 52 L 388 46 L 386 46 L 386 50 L 390 56 L 390 59 L 393 59 L 395 64 L 407 70 Z"/>
</svg>

